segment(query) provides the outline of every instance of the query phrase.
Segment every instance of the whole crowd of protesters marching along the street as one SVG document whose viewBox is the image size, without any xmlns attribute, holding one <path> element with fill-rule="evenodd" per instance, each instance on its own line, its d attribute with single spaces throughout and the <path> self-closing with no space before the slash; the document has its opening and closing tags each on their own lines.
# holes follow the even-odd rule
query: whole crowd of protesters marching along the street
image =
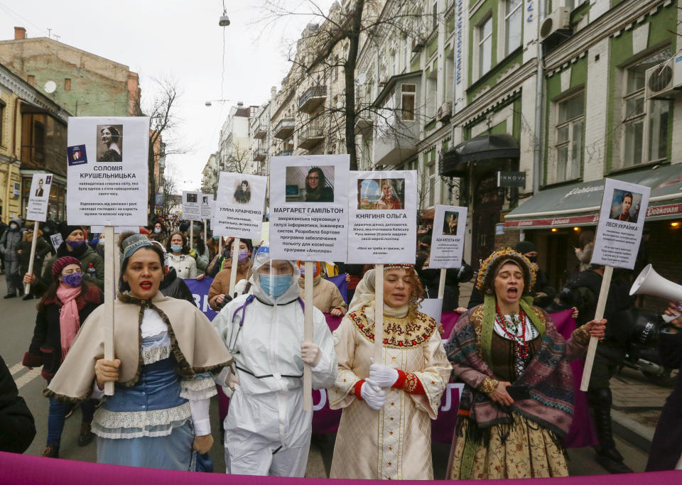
<svg viewBox="0 0 682 485">
<path fill-rule="evenodd" d="M 313 264 L 313 333 L 304 338 L 303 261 L 271 258 L 267 241 L 203 231 L 198 222 L 156 214 L 148 227 L 117 235 L 116 355 L 104 359 L 103 248 L 115 241 L 49 219 L 37 233 L 21 219 L 3 228 L 4 298 L 38 300 L 23 365 L 42 367 L 47 383 L 43 457 L 60 456 L 65 419 L 80 406 L 78 445 L 97 437 L 100 463 L 210 469 L 207 451 L 220 437 L 230 474 L 303 476 L 311 436 L 317 439 L 312 413 L 303 410 L 309 364 L 312 387 L 326 389 L 330 408 L 342 410 L 332 478 L 433 479 L 431 423 L 448 383 L 463 384 L 450 430 L 449 479 L 568 476 L 566 438 L 580 405 L 594 423 L 600 464 L 611 473 L 632 472 L 615 447 L 609 388 L 624 358 L 610 324 L 632 298 L 624 279 L 615 278 L 604 318 L 595 320 L 603 266 L 583 266 L 557 291 L 530 241 L 490 254 L 477 273 L 462 261 L 445 272 L 443 314 L 457 318 L 445 333 L 420 311 L 424 298 L 438 293 L 440 273 L 429 268 L 429 239 L 422 238 L 416 265 L 384 267 L 379 362 L 373 265 Z M 57 232 L 63 242 L 53 248 L 48 235 Z M 36 237 L 29 273 L 23 255 Z M 212 281 L 208 305 L 217 312 L 212 322 L 187 284 L 205 278 Z M 472 278 L 470 302 L 460 306 L 459 285 Z M 562 335 L 553 315 L 566 310 L 577 326 Z M 333 332 L 328 320 L 336 321 Z M 679 366 L 682 354 L 676 329 L 682 317 L 659 339 L 670 366 Z M 585 356 L 590 337 L 600 343 L 587 402 L 577 403 L 573 379 L 580 376 L 571 378 L 570 362 Z M 112 381 L 114 395 L 105 397 Z M 33 418 L 11 378 L 0 383 L 0 449 L 23 452 L 36 433 Z M 673 396 L 678 392 L 679 386 Z M 212 399 L 220 405 L 218 426 L 209 416 Z M 679 423 L 678 405 L 666 405 L 661 416 L 651 471 L 673 469 L 682 452 L 680 427 L 666 429 L 666 422 Z"/>
</svg>

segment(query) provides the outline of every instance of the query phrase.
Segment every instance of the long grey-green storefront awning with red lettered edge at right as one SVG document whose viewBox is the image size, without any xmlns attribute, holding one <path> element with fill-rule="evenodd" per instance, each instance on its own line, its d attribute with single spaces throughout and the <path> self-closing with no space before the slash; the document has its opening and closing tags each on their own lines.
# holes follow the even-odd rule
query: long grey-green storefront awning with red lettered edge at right
<svg viewBox="0 0 682 485">
<path fill-rule="evenodd" d="M 682 163 L 612 177 L 651 187 L 646 220 L 682 217 Z M 507 229 L 593 226 L 597 224 L 604 181 L 542 190 L 507 214 Z"/>
</svg>

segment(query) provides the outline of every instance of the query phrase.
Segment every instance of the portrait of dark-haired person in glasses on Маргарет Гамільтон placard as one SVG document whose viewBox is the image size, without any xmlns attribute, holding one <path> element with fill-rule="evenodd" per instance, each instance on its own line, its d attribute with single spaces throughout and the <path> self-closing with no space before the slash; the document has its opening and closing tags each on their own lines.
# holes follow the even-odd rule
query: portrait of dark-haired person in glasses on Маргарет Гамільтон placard
<svg viewBox="0 0 682 485">
<path fill-rule="evenodd" d="M 286 202 L 334 202 L 334 165 L 286 168 Z"/>
</svg>

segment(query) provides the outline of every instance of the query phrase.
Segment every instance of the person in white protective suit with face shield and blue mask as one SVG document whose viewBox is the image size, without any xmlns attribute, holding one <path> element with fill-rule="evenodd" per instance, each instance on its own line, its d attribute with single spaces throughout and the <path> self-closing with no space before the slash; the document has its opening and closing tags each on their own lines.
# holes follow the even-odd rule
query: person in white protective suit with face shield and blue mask
<svg viewBox="0 0 682 485">
<path fill-rule="evenodd" d="M 254 257 L 253 295 L 228 303 L 213 320 L 234 353 L 234 391 L 225 428 L 229 474 L 303 476 L 313 413 L 303 411 L 303 362 L 313 366 L 313 388 L 332 386 L 334 341 L 313 309 L 313 342 L 303 342 L 300 272 L 293 261 L 271 260 L 267 246 Z"/>
</svg>

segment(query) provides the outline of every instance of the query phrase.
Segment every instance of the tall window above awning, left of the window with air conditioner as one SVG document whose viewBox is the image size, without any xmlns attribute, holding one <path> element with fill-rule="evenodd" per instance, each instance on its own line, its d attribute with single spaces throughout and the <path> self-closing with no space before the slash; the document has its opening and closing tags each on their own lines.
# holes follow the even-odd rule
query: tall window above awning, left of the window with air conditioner
<svg viewBox="0 0 682 485">
<path fill-rule="evenodd" d="M 583 167 L 583 126 L 585 124 L 585 92 L 558 102 L 555 131 L 556 170 L 548 175 L 548 183 L 580 178 Z"/>
</svg>

